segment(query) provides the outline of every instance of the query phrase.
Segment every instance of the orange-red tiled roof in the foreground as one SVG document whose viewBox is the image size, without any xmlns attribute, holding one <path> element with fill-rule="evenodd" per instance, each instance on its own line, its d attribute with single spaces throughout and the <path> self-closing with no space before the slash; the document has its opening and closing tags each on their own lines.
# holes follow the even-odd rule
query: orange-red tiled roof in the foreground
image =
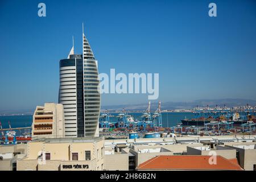
<svg viewBox="0 0 256 182">
<path fill-rule="evenodd" d="M 209 164 L 211 156 L 204 155 L 159 155 L 139 164 L 137 169 L 156 170 L 243 170 L 237 159 L 226 159 L 217 155 L 217 164 Z"/>
</svg>

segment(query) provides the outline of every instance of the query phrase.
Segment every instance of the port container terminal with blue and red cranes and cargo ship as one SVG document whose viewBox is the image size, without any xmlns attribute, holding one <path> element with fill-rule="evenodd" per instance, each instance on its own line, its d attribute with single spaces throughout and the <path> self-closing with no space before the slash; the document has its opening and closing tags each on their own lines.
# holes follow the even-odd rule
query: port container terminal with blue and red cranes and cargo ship
<svg viewBox="0 0 256 182">
<path fill-rule="evenodd" d="M 194 118 L 181 119 L 176 126 L 170 127 L 163 127 L 161 102 L 153 113 L 150 105 L 148 102 L 147 109 L 138 119 L 125 109 L 118 115 L 112 115 L 105 110 L 99 119 L 100 136 L 105 139 L 134 139 L 256 134 L 256 107 L 249 105 L 233 108 L 216 105 L 214 108 L 207 106 L 203 109 L 197 106 L 192 111 Z M 112 121 L 113 117 L 117 122 Z M 32 127 L 12 128 L 10 122 L 9 129 L 3 129 L 0 122 L 0 143 L 26 143 L 31 140 L 31 130 Z"/>
</svg>

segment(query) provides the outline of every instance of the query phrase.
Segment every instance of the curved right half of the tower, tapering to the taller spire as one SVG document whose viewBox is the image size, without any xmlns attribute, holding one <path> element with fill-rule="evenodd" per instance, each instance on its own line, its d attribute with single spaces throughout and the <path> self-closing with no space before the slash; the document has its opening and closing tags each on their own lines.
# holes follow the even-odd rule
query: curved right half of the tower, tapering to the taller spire
<svg viewBox="0 0 256 182">
<path fill-rule="evenodd" d="M 82 34 L 82 59 L 84 61 L 84 131 L 85 137 L 98 137 L 100 117 L 100 79 L 98 63 L 88 40 Z"/>
</svg>

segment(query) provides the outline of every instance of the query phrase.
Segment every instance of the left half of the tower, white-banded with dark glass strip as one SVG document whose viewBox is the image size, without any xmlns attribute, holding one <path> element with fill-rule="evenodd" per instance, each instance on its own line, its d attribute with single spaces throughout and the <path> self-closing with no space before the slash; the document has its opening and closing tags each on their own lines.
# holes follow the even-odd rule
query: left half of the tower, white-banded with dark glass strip
<svg viewBox="0 0 256 182">
<path fill-rule="evenodd" d="M 63 104 L 65 137 L 84 137 L 82 55 L 60 60 L 59 103 Z"/>
</svg>

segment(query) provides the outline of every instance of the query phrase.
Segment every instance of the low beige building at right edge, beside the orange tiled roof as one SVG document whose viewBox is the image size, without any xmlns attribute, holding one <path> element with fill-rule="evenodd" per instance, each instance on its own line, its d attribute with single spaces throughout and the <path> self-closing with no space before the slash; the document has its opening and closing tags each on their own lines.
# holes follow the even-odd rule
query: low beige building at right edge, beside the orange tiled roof
<svg viewBox="0 0 256 182">
<path fill-rule="evenodd" d="M 232 142 L 225 143 L 225 147 L 237 151 L 237 159 L 240 166 L 246 171 L 256 171 L 256 143 Z"/>
</svg>

